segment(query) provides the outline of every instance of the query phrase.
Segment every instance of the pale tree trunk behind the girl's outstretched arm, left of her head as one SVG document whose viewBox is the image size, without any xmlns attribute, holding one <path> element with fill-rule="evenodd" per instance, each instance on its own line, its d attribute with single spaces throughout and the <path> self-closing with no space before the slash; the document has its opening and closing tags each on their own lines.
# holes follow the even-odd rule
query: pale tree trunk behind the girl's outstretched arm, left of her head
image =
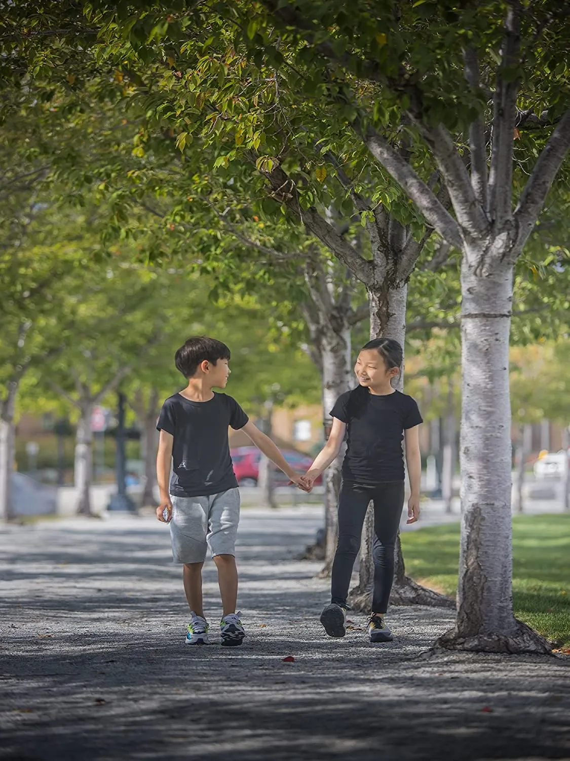
<svg viewBox="0 0 570 761">
<path fill-rule="evenodd" d="M 322 356 L 322 400 L 325 440 L 331 433 L 332 418 L 329 414 L 341 393 L 350 390 L 352 380 L 352 358 L 350 356 L 350 325 L 345 324 L 338 333 L 321 338 Z M 344 460 L 345 447 L 340 450 L 324 473 L 325 482 L 325 565 L 320 576 L 331 575 L 334 552 L 338 540 L 338 495 L 340 492 L 340 470 Z"/>
</svg>

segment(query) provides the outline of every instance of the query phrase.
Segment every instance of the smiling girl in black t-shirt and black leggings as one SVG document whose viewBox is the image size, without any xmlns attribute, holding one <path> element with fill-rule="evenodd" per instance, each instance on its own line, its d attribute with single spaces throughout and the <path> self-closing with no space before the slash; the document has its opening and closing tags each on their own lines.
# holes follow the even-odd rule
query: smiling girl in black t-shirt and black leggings
<svg viewBox="0 0 570 761">
<path fill-rule="evenodd" d="M 420 515 L 419 425 L 423 420 L 416 401 L 392 388 L 391 380 L 400 372 L 402 360 L 402 347 L 393 339 L 378 338 L 363 346 L 354 368 L 359 385 L 338 397 L 331 410 L 331 435 L 306 476 L 302 476 L 306 485 L 312 486 L 337 457 L 347 434 L 331 604 L 321 613 L 321 623 L 330 637 L 344 637 L 347 633 L 348 587 L 366 508 L 372 500 L 374 591 L 368 634 L 370 642 L 392 639 L 384 616 L 394 580 L 394 543 L 404 507 L 403 438 L 411 490 L 407 523 L 415 523 Z"/>
</svg>

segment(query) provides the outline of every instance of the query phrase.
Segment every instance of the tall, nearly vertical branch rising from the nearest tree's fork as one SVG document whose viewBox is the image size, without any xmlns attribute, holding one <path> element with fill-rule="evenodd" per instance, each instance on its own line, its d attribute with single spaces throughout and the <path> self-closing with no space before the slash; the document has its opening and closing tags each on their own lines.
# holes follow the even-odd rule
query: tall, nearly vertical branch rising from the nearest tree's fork
<svg viewBox="0 0 570 761">
<path fill-rule="evenodd" d="M 511 4 L 505 19 L 502 61 L 497 72 L 492 116 L 491 168 L 487 215 L 499 227 L 512 213 L 512 165 L 517 94 L 520 78 L 513 74 L 520 64 L 521 7 Z M 507 75 L 505 77 L 505 75 Z"/>
</svg>

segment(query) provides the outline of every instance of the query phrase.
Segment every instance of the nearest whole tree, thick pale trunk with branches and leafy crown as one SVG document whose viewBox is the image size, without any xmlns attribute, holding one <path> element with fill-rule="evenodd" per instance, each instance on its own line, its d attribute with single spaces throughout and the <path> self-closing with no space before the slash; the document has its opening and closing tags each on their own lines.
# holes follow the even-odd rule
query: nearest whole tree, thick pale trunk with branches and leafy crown
<svg viewBox="0 0 570 761">
<path fill-rule="evenodd" d="M 505 13 L 498 3 L 483 13 L 426 2 L 382 18 L 362 3 L 329 31 L 323 3 L 264 5 L 282 29 L 295 27 L 309 40 L 326 62 L 324 75 L 341 82 L 337 97 L 352 104 L 354 129 L 371 154 L 462 253 L 464 518 L 457 624 L 439 643 L 545 652 L 543 639 L 512 612 L 508 334 L 513 267 L 570 146 L 568 94 L 554 64 L 567 43 L 565 14 L 550 2 L 530 12 L 513 2 Z M 336 10 L 327 4 L 328 14 Z M 382 120 L 366 113 L 355 78 L 369 83 L 381 107 L 379 87 L 390 94 L 404 129 L 439 172 L 451 212 L 382 134 Z M 533 154 L 527 177 L 520 162 Z"/>
</svg>

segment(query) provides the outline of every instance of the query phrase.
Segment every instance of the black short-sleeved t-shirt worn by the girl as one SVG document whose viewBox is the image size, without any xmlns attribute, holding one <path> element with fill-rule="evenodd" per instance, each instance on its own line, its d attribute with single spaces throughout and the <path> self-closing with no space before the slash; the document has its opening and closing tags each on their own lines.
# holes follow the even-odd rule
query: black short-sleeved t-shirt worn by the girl
<svg viewBox="0 0 570 761">
<path fill-rule="evenodd" d="M 416 400 L 400 391 L 380 396 L 360 386 L 338 397 L 331 416 L 347 423 L 345 481 L 373 486 L 404 480 L 404 431 L 423 422 Z"/>
</svg>

